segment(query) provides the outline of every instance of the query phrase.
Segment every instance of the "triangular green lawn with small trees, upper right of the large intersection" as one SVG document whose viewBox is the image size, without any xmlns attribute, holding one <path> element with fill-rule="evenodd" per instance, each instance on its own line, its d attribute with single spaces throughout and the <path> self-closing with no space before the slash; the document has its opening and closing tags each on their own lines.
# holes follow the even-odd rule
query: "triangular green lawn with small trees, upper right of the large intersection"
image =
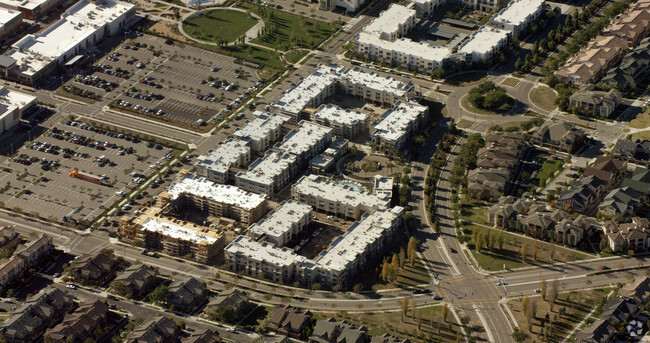
<svg viewBox="0 0 650 343">
<path fill-rule="evenodd" d="M 552 245 L 550 243 L 537 241 L 532 238 L 515 235 L 510 232 L 473 225 L 467 222 L 464 222 L 462 226 L 464 231 L 469 232 L 469 236 L 472 236 L 473 231 L 479 230 L 479 232 L 482 233 L 483 237 L 486 237 L 487 233 L 489 232 L 490 236 L 494 239 L 493 248 L 489 249 L 487 248 L 487 244 L 484 244 L 484 248 L 480 253 L 475 249 L 474 244 L 470 245 L 472 248 L 472 254 L 478 261 L 479 265 L 485 270 L 503 270 L 504 265 L 506 269 L 513 269 L 529 265 L 583 260 L 590 257 L 587 254 L 572 249 L 567 249 L 560 245 Z M 501 232 L 503 232 L 504 244 L 503 247 L 499 249 L 498 237 Z M 524 262 L 521 258 L 521 247 L 524 243 L 528 246 L 526 262 Z M 537 245 L 536 257 L 533 256 L 534 244 Z M 552 259 L 551 252 L 553 254 Z"/>
</svg>

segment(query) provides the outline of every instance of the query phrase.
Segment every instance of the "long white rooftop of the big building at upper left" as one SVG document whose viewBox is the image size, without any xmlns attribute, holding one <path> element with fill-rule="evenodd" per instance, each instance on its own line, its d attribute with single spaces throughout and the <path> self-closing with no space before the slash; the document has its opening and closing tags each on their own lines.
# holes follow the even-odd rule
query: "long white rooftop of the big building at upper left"
<svg viewBox="0 0 650 343">
<path fill-rule="evenodd" d="M 115 0 L 79 1 L 43 32 L 16 42 L 7 55 L 17 61 L 22 73 L 33 75 L 132 8 Z"/>
</svg>

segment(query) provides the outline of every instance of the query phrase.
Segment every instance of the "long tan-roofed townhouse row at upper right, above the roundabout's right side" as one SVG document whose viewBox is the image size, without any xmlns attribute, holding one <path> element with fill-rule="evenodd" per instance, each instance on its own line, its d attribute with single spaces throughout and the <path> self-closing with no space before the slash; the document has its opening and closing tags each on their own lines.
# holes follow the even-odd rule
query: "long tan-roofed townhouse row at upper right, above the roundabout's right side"
<svg viewBox="0 0 650 343">
<path fill-rule="evenodd" d="M 572 86 L 596 83 L 620 61 L 627 47 L 628 42 L 624 38 L 598 35 L 556 71 L 555 76 Z"/>
</svg>

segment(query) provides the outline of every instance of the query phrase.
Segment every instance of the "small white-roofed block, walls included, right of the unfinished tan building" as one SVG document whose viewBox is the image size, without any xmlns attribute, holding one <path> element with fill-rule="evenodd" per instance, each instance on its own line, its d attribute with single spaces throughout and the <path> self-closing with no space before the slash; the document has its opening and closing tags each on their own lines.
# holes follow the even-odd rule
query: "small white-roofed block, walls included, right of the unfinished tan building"
<svg viewBox="0 0 650 343">
<path fill-rule="evenodd" d="M 248 235 L 255 240 L 271 242 L 281 248 L 303 232 L 311 221 L 311 206 L 285 200 L 265 219 L 251 225 Z"/>
</svg>

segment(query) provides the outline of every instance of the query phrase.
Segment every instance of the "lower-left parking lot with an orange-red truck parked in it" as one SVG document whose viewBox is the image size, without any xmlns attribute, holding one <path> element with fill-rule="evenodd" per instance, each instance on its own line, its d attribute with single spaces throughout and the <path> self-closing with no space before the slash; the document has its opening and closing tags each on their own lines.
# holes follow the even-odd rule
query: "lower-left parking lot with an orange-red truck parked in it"
<svg viewBox="0 0 650 343">
<path fill-rule="evenodd" d="M 0 201 L 50 220 L 92 222 L 171 153 L 160 144 L 62 120 L 0 165 Z"/>
</svg>

